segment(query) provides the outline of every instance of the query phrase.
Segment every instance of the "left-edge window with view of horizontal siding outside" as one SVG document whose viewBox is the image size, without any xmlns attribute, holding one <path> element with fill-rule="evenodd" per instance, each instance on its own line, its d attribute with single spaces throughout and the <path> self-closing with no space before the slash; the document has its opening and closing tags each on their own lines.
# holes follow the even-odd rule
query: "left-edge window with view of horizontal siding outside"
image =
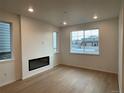
<svg viewBox="0 0 124 93">
<path fill-rule="evenodd" d="M 11 25 L 0 22 L 0 60 L 12 58 Z"/>
</svg>

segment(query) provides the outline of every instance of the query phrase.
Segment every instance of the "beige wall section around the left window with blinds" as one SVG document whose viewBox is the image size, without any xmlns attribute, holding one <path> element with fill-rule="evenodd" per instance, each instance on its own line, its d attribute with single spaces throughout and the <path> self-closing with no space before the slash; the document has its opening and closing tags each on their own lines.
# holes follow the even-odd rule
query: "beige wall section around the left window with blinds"
<svg viewBox="0 0 124 93">
<path fill-rule="evenodd" d="M 0 62 L 0 86 L 21 79 L 21 50 L 19 16 L 0 10 L 0 21 L 12 23 L 14 60 Z"/>
</svg>

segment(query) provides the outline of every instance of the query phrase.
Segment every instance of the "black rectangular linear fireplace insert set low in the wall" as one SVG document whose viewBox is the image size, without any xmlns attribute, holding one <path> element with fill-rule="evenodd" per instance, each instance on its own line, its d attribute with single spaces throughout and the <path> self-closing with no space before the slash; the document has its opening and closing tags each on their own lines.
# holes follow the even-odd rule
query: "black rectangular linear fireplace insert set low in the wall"
<svg viewBox="0 0 124 93">
<path fill-rule="evenodd" d="M 49 65 L 49 56 L 29 60 L 29 71 Z"/>
</svg>

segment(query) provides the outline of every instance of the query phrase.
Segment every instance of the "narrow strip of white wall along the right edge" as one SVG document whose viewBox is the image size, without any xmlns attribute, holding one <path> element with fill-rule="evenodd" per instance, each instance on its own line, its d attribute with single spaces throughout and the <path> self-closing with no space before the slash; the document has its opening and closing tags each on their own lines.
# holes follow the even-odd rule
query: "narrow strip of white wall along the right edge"
<svg viewBox="0 0 124 93">
<path fill-rule="evenodd" d="M 124 7 L 123 2 L 119 16 L 119 69 L 118 80 L 120 93 L 124 93 Z"/>
</svg>

